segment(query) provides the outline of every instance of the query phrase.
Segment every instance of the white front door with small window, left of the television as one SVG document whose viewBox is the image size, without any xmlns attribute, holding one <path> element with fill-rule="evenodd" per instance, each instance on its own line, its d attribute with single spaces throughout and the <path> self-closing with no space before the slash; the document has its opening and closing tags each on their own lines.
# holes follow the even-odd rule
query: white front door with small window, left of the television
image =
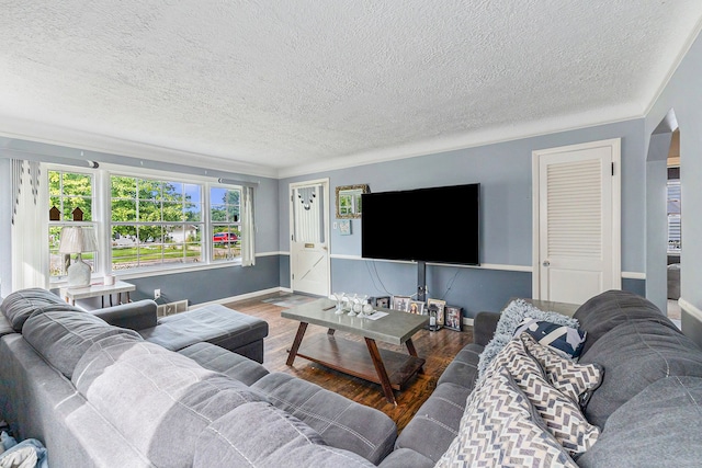
<svg viewBox="0 0 702 468">
<path fill-rule="evenodd" d="M 329 181 L 291 184 L 291 286 L 329 296 Z"/>
</svg>

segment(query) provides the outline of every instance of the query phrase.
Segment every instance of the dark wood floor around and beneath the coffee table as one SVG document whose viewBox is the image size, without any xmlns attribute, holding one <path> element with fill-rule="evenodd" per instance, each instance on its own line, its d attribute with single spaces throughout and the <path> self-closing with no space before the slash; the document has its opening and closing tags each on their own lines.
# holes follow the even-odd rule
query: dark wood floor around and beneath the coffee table
<svg viewBox="0 0 702 468">
<path fill-rule="evenodd" d="M 437 380 L 456 353 L 466 344 L 473 342 L 472 328 L 464 328 L 463 332 L 442 329 L 438 332 L 419 331 L 415 338 L 415 346 L 419 357 L 427 359 L 424 372 L 411 379 L 403 391 L 396 391 L 397 406 L 388 403 L 383 396 L 380 385 L 355 377 L 330 370 L 325 366 L 297 357 L 293 366 L 287 366 L 287 350 L 293 343 L 299 322 L 281 317 L 283 307 L 263 303 L 263 299 L 284 297 L 284 294 L 260 296 L 254 299 L 227 304 L 226 306 L 240 312 L 259 317 L 269 323 L 269 335 L 264 341 L 265 355 L 263 365 L 270 372 L 282 372 L 312 381 L 328 390 L 343 395 L 351 400 L 367 407 L 376 408 L 390 416 L 401 431 L 415 415 L 419 407 L 437 387 Z M 313 334 L 326 333 L 327 329 L 309 326 L 305 338 Z M 358 336 L 337 332 L 350 340 L 362 341 Z M 407 353 L 404 346 L 378 343 L 378 347 Z"/>
</svg>

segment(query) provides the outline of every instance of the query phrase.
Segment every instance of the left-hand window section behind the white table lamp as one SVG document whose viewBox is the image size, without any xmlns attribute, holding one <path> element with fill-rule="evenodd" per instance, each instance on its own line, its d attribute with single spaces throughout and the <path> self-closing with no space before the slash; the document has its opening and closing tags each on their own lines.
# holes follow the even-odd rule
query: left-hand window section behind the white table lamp
<svg viewBox="0 0 702 468">
<path fill-rule="evenodd" d="M 91 174 L 59 170 L 48 171 L 50 220 L 48 226 L 49 276 L 66 275 L 70 255 L 58 253 L 60 232 L 65 226 L 95 227 L 93 221 L 93 178 Z M 80 212 L 76 212 L 79 209 Z M 81 218 L 82 220 L 73 220 Z M 95 271 L 97 252 L 82 254 L 83 262 Z"/>
</svg>

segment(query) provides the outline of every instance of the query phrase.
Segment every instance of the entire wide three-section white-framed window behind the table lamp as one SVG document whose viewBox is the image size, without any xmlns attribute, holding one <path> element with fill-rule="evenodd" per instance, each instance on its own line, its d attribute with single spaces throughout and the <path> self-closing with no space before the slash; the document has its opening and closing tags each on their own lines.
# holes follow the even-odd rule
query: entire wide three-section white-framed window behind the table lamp
<svg viewBox="0 0 702 468">
<path fill-rule="evenodd" d="M 140 274 L 241 261 L 241 187 L 58 165 L 46 174 L 52 282 L 65 278 L 75 256 L 58 251 L 66 226 L 91 227 L 98 233 L 98 252 L 82 253 L 93 273 Z"/>
</svg>

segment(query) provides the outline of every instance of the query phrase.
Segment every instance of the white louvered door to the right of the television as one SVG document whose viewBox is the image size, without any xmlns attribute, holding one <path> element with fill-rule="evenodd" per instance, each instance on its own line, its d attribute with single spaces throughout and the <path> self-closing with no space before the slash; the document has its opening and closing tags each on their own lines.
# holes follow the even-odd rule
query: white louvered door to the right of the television
<svg viewBox="0 0 702 468">
<path fill-rule="evenodd" d="M 533 152 L 533 297 L 621 288 L 620 139 Z"/>
</svg>

